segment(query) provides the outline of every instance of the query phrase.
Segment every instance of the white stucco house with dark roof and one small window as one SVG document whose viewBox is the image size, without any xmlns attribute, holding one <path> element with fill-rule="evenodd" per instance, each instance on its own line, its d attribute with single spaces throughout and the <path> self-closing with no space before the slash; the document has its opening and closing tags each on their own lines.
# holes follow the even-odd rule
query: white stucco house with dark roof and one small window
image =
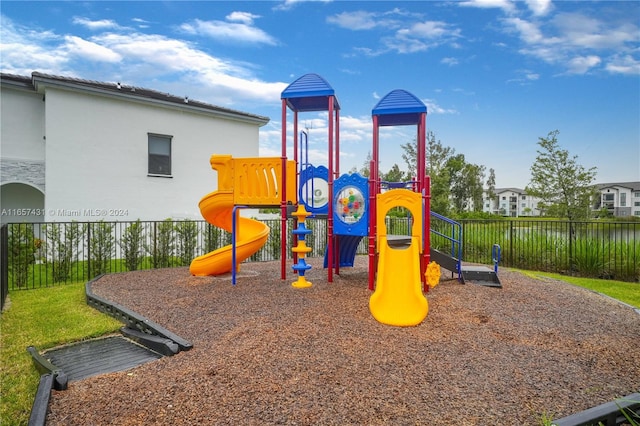
<svg viewBox="0 0 640 426">
<path fill-rule="evenodd" d="M 201 219 L 212 154 L 269 118 L 120 83 L 1 75 L 2 222 Z"/>
</svg>

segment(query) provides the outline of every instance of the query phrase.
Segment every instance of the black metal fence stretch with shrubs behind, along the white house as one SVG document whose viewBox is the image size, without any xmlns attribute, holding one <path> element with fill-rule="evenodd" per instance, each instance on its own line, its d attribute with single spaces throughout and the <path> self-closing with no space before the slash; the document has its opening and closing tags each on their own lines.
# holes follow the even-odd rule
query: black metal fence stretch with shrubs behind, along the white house
<svg viewBox="0 0 640 426">
<path fill-rule="evenodd" d="M 280 259 L 281 221 L 249 261 Z M 293 229 L 293 221 L 287 224 Z M 307 220 L 309 256 L 324 255 L 326 222 Z M 3 226 L 7 290 L 88 281 L 100 274 L 188 266 L 199 255 L 231 244 L 231 234 L 205 221 L 14 223 Z M 291 247 L 293 234 L 287 242 Z"/>
</svg>

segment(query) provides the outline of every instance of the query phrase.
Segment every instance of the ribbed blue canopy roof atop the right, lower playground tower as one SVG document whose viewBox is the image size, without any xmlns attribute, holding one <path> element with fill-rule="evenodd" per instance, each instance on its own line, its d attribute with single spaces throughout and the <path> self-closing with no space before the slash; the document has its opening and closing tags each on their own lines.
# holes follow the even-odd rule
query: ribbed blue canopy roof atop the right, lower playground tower
<svg viewBox="0 0 640 426">
<path fill-rule="evenodd" d="M 420 124 L 420 115 L 427 112 L 427 106 L 406 90 L 389 92 L 373 107 L 372 116 L 378 116 L 380 126 L 404 126 Z"/>
</svg>

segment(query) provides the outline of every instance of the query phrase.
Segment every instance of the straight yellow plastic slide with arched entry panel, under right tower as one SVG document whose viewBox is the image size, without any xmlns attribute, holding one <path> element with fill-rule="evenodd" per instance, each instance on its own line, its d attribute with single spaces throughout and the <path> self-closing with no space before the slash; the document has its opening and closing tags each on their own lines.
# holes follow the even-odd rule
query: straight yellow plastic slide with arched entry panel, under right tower
<svg viewBox="0 0 640 426">
<path fill-rule="evenodd" d="M 394 207 L 411 213 L 411 245 L 392 248 L 387 242 L 385 216 Z M 393 189 L 377 195 L 378 270 L 376 289 L 369 298 L 371 315 L 383 324 L 418 325 L 429 312 L 422 293 L 420 253 L 422 250 L 422 196 L 406 189 Z"/>
</svg>

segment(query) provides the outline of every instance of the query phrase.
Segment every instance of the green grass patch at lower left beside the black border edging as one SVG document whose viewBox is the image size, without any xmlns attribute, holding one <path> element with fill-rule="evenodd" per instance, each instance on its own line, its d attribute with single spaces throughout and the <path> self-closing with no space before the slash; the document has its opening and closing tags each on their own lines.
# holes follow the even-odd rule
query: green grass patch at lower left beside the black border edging
<svg viewBox="0 0 640 426">
<path fill-rule="evenodd" d="M 122 324 L 86 304 L 84 283 L 12 291 L 7 303 L 0 317 L 0 424 L 24 425 L 40 380 L 27 346 L 42 351 Z"/>
</svg>

